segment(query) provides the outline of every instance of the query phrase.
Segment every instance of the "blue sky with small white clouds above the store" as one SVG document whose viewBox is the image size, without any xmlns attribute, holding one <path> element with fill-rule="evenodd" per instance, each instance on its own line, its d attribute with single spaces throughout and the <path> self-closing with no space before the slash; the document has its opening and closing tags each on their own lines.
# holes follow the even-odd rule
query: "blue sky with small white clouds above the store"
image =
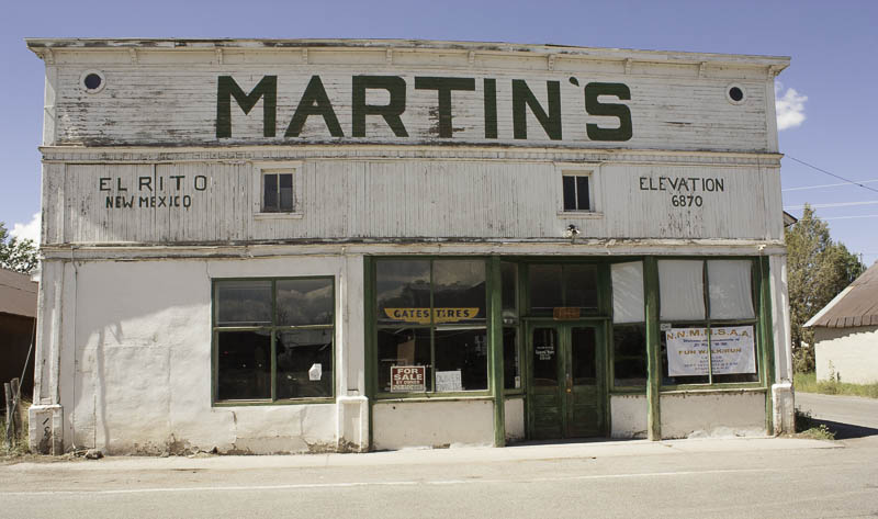
<svg viewBox="0 0 878 519">
<path fill-rule="evenodd" d="M 878 260 L 875 1 L 50 1 L 0 20 L 0 221 L 40 210 L 43 63 L 24 37 L 381 37 L 553 43 L 792 57 L 779 79 L 784 205 L 808 202 L 834 239 Z M 819 172 L 807 162 L 875 191 Z M 807 188 L 807 189 L 799 189 Z M 844 205 L 838 205 L 844 204 Z M 800 208 L 788 208 L 800 215 Z M 31 228 L 34 226 L 32 225 Z"/>
</svg>

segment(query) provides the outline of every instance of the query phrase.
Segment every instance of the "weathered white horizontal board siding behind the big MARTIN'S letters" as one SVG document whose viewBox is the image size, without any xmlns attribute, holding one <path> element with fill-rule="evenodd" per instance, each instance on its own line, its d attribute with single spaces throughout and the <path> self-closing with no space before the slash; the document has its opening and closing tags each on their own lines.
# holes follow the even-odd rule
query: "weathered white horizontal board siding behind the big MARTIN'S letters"
<svg viewBox="0 0 878 519">
<path fill-rule="evenodd" d="M 544 60 L 496 57 L 483 65 L 451 67 L 439 57 L 409 54 L 406 65 L 374 65 L 369 53 L 326 54 L 320 65 L 291 63 L 248 63 L 234 65 L 189 64 L 149 59 L 121 64 L 95 61 L 100 57 L 81 53 L 75 63 L 59 63 L 50 69 L 55 92 L 53 135 L 46 145 L 224 145 L 224 144 L 300 144 L 331 143 L 455 143 L 514 146 L 570 146 L 589 148 L 634 148 L 674 150 L 774 151 L 766 124 L 766 98 L 774 99 L 766 74 L 713 69 L 699 77 L 697 66 L 637 64 L 631 74 L 618 65 L 584 60 L 560 60 L 559 69 L 548 70 Z M 374 54 L 374 52 L 372 52 Z M 380 53 L 383 55 L 383 53 Z M 295 59 L 299 55 L 295 54 Z M 94 59 L 86 59 L 91 57 Z M 108 58 L 109 59 L 109 58 Z M 358 63 L 359 60 L 359 63 Z M 338 61 L 338 63 L 335 63 Z M 539 67 L 538 67 L 539 66 Z M 542 67 L 542 69 L 540 69 Z M 99 69 L 105 75 L 105 88 L 87 93 L 80 86 L 83 72 Z M 612 69 L 619 71 L 611 71 Z M 217 78 L 232 76 L 244 92 L 263 76 L 278 77 L 277 136 L 262 135 L 260 101 L 245 115 L 232 101 L 232 137 L 216 137 Z M 312 115 L 297 138 L 284 138 L 306 84 L 312 76 L 323 81 L 345 137 L 331 137 L 323 117 Z M 396 137 L 381 116 L 365 117 L 365 136 L 353 137 L 351 124 L 354 75 L 399 76 L 406 82 L 406 108 L 402 121 L 408 137 Z M 451 94 L 452 138 L 438 137 L 438 95 L 436 90 L 416 90 L 415 77 L 461 77 L 475 80 L 475 91 Z M 496 80 L 497 138 L 485 136 L 484 79 Z M 577 84 L 574 84 L 571 79 Z M 530 109 L 526 109 L 527 139 L 513 134 L 511 81 L 521 79 L 548 111 L 547 81 L 559 81 L 562 111 L 562 139 L 552 140 Z M 589 82 L 621 82 L 629 87 L 630 101 L 614 97 L 601 102 L 627 104 L 631 111 L 630 140 L 596 142 L 586 135 L 586 124 L 616 127 L 611 116 L 586 114 L 584 87 Z M 732 104 L 728 87 L 743 87 L 746 100 Z M 384 104 L 386 91 L 367 91 L 367 102 Z"/>
</svg>

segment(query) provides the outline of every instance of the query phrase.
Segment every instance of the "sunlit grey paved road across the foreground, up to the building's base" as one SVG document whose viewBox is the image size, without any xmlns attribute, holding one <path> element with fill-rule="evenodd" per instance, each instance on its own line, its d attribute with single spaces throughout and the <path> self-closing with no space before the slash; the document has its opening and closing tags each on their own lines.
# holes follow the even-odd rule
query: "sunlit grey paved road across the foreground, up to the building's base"
<svg viewBox="0 0 878 519">
<path fill-rule="evenodd" d="M 878 437 L 0 466 L 0 517 L 876 517 Z"/>
</svg>

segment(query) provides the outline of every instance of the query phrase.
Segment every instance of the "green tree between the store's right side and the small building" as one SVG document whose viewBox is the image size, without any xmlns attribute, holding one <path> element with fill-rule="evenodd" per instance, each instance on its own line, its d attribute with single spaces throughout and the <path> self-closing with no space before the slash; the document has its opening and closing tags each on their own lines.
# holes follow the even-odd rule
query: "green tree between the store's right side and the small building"
<svg viewBox="0 0 878 519">
<path fill-rule="evenodd" d="M 785 232 L 789 289 L 790 331 L 796 371 L 814 370 L 813 331 L 802 328 L 866 267 L 844 244 L 830 237 L 825 222 L 810 205 Z"/>
</svg>

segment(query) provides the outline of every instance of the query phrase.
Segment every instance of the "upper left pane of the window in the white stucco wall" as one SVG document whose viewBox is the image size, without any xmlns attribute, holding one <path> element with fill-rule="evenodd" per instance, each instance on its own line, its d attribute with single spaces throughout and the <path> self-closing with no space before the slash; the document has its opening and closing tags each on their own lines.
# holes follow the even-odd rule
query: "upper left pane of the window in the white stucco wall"
<svg viewBox="0 0 878 519">
<path fill-rule="evenodd" d="M 216 326 L 271 325 L 271 281 L 216 283 Z"/>
</svg>

